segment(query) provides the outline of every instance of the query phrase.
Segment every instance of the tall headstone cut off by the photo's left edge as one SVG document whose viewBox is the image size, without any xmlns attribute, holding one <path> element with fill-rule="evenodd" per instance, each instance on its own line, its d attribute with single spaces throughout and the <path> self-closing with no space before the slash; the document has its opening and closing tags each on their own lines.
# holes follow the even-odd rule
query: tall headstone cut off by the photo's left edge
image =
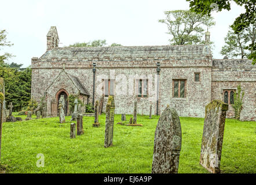
<svg viewBox="0 0 256 185">
<path fill-rule="evenodd" d="M 3 81 L 3 78 L 0 77 L 0 161 L 1 161 L 1 143 L 2 143 L 2 125 L 3 125 L 3 112 L 5 110 L 3 109 L 3 103 L 5 100 L 5 82 Z"/>
</svg>

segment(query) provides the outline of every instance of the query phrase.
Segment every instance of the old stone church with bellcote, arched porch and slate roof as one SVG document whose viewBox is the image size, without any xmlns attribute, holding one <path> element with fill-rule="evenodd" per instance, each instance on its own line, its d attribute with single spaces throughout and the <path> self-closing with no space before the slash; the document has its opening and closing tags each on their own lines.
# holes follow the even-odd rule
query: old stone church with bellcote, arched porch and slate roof
<svg viewBox="0 0 256 185">
<path fill-rule="evenodd" d="M 57 116 L 58 99 L 78 95 L 86 105 L 108 95 L 115 97 L 115 113 L 161 114 L 169 104 L 179 116 L 204 117 L 207 103 L 232 103 L 237 86 L 244 91 L 241 120 L 256 121 L 256 66 L 250 60 L 214 59 L 208 45 L 58 47 L 56 27 L 46 35 L 47 49 L 33 57 L 31 97 L 45 96 L 47 116 Z M 206 40 L 210 33 L 206 32 Z M 85 111 L 85 109 L 83 109 Z"/>
</svg>

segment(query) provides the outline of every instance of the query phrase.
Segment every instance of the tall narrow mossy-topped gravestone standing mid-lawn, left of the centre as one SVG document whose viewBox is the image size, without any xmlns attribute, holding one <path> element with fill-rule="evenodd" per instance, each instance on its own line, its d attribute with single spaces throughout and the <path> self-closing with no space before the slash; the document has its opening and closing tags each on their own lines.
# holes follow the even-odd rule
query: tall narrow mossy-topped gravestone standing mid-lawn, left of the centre
<svg viewBox="0 0 256 185">
<path fill-rule="evenodd" d="M 114 118 L 115 118 L 114 97 L 109 95 L 108 102 L 106 105 L 105 141 L 104 141 L 105 148 L 112 146 L 112 143 L 113 143 Z"/>
</svg>

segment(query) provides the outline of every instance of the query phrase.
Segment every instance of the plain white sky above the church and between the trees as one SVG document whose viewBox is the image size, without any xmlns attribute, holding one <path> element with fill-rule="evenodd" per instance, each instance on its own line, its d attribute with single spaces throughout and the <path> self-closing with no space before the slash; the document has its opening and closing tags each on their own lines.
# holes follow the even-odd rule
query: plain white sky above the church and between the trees
<svg viewBox="0 0 256 185">
<path fill-rule="evenodd" d="M 167 26 L 158 23 L 166 10 L 189 9 L 185 0 L 5 0 L 1 1 L 0 29 L 6 29 L 12 47 L 1 47 L 0 54 L 12 53 L 9 62 L 31 65 L 32 57 L 46 51 L 46 34 L 56 26 L 59 47 L 75 42 L 106 39 L 107 44 L 123 46 L 169 45 Z M 214 58 L 220 54 L 228 27 L 244 9 L 232 3 L 231 10 L 214 12 L 216 25 L 210 28 Z"/>
</svg>

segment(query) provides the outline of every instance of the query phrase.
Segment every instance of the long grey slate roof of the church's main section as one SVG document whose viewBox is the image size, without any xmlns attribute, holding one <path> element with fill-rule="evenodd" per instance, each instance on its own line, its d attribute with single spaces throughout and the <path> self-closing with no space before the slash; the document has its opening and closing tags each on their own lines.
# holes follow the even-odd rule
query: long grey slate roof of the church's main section
<svg viewBox="0 0 256 185">
<path fill-rule="evenodd" d="M 207 45 L 118 46 L 118 47 L 56 47 L 41 58 L 103 58 L 103 57 L 171 57 L 211 55 Z"/>
</svg>

